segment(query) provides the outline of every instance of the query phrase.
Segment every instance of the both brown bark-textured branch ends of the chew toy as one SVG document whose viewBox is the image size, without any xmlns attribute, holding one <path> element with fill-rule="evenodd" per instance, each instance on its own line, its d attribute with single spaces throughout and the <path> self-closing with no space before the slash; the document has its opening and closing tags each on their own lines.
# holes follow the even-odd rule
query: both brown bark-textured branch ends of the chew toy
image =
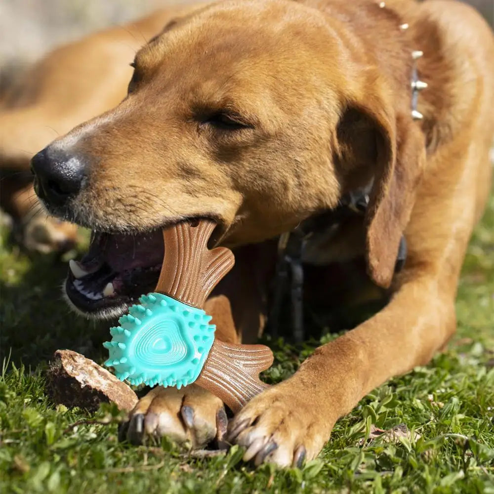
<svg viewBox="0 0 494 494">
<path fill-rule="evenodd" d="M 204 306 L 213 288 L 235 263 L 230 249 L 207 248 L 215 226 L 210 220 L 199 220 L 163 230 L 165 257 L 156 291 L 193 307 Z M 272 363 L 273 353 L 267 346 L 215 339 L 195 382 L 235 413 L 268 386 L 259 379 L 259 373 Z"/>
</svg>

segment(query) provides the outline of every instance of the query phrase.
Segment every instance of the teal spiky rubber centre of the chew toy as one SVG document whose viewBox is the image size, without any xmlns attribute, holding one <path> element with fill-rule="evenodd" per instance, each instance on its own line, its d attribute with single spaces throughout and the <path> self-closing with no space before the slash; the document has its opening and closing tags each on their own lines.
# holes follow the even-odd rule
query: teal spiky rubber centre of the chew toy
<svg viewBox="0 0 494 494">
<path fill-rule="evenodd" d="M 214 341 L 211 316 L 162 293 L 139 298 L 120 326 L 110 329 L 110 352 L 105 366 L 130 384 L 176 386 L 194 382 L 201 373 Z"/>
</svg>

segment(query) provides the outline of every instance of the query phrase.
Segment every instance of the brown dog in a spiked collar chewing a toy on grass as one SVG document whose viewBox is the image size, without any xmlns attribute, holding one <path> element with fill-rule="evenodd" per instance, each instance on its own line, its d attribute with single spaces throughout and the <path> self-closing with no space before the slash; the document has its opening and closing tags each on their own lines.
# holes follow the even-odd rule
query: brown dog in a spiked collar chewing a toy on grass
<svg viewBox="0 0 494 494">
<path fill-rule="evenodd" d="M 253 339 L 270 239 L 370 189 L 364 220 L 309 239 L 304 260 L 319 267 L 308 290 L 329 305 L 331 266 L 363 256 L 389 302 L 230 424 L 246 460 L 299 464 L 338 417 L 427 363 L 455 330 L 458 274 L 490 189 L 493 34 L 454 1 L 224 1 L 170 22 L 134 67 L 118 107 L 32 161 L 47 209 L 95 231 L 66 283 L 84 314 L 116 315 L 154 288 L 161 227 L 209 217 L 237 264 L 206 310 L 220 339 Z M 418 76 L 428 86 L 416 100 Z M 403 234 L 408 257 L 395 274 Z M 222 434 L 222 410 L 194 385 L 157 387 L 123 435 L 202 445 Z"/>
</svg>

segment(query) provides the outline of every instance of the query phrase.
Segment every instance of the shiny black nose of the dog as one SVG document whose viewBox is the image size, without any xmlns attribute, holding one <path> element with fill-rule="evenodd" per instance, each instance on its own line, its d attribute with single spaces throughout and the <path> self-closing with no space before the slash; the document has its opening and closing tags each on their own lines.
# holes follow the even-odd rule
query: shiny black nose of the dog
<svg viewBox="0 0 494 494">
<path fill-rule="evenodd" d="M 48 204 L 61 206 L 78 194 L 86 176 L 82 160 L 48 146 L 31 160 L 35 190 Z"/>
</svg>

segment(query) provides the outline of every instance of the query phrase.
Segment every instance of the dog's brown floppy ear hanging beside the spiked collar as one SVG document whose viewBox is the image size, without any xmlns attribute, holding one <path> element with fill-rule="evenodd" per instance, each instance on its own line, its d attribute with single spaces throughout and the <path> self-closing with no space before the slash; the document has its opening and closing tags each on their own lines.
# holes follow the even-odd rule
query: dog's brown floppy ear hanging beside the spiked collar
<svg viewBox="0 0 494 494">
<path fill-rule="evenodd" d="M 359 149 L 353 155 L 362 155 L 365 152 L 362 145 L 369 148 L 372 141 L 368 157 L 375 161 L 366 213 L 367 267 L 373 282 L 388 288 L 425 163 L 424 137 L 409 115 L 395 114 L 381 98 L 370 97 L 366 103 L 359 103 L 357 110 L 356 105 L 352 106 L 352 111 L 360 113 L 368 128 L 365 134 L 360 132 L 352 139 Z"/>
</svg>

